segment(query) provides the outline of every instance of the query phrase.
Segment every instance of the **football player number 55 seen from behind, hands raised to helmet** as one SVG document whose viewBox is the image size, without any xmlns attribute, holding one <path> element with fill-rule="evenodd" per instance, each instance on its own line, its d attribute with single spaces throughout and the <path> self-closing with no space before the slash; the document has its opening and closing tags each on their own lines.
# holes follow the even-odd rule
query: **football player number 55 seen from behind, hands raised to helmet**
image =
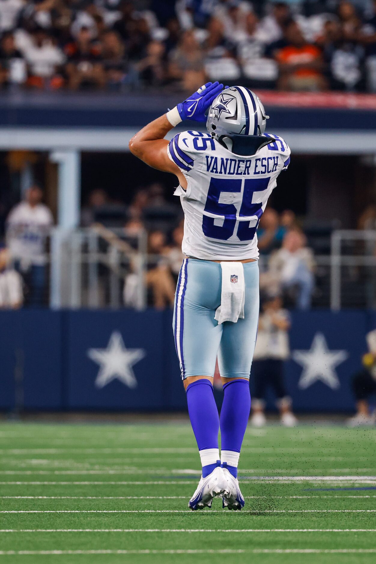
<svg viewBox="0 0 376 564">
<path fill-rule="evenodd" d="M 264 134 L 267 118 L 254 92 L 208 82 L 129 144 L 136 157 L 179 180 L 175 195 L 185 216 L 186 258 L 173 329 L 202 464 L 188 504 L 193 510 L 210 507 L 216 496 L 228 509 L 244 506 L 237 466 L 250 413 L 259 316 L 256 229 L 278 174 L 290 162 L 284 140 Z M 188 130 L 165 139 L 187 120 L 206 121 L 208 133 Z M 224 390 L 220 417 L 213 395 L 217 355 Z"/>
</svg>

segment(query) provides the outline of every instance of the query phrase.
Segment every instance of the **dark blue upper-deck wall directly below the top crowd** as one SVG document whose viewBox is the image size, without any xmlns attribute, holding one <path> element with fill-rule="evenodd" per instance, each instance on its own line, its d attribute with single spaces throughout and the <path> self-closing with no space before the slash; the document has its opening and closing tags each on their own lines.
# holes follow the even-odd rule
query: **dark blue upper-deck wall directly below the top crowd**
<svg viewBox="0 0 376 564">
<path fill-rule="evenodd" d="M 293 96 L 289 94 L 287 96 Z M 304 100 L 306 94 L 299 93 Z M 330 99 L 330 95 L 319 93 L 319 99 Z M 110 128 L 116 131 L 124 127 L 145 125 L 174 107 L 182 94 L 83 94 L 69 92 L 19 92 L 17 95 L 0 93 L 0 127 L 29 127 L 51 129 L 74 127 Z M 271 100 L 269 100 L 271 98 Z M 312 98 L 312 96 L 311 96 Z M 356 95 L 343 95 L 351 99 L 337 107 L 322 105 L 283 105 L 280 93 L 269 94 L 264 104 L 270 109 L 268 129 L 276 130 L 356 130 L 376 129 L 376 96 L 367 95 L 357 99 Z M 280 100 L 280 101 L 278 101 Z M 342 100 L 342 101 L 343 101 Z M 364 101 L 366 100 L 366 102 Z M 197 128 L 197 124 L 194 127 Z M 72 141 L 72 140 L 71 140 Z M 72 141 L 74 144 L 74 140 Z"/>
</svg>

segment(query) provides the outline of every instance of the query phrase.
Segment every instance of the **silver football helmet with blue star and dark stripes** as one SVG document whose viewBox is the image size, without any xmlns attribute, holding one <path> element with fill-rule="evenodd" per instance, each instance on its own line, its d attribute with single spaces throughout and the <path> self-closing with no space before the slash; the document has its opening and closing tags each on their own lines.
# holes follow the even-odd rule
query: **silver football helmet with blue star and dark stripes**
<svg viewBox="0 0 376 564">
<path fill-rule="evenodd" d="M 206 127 L 214 137 L 262 135 L 268 117 L 254 92 L 244 86 L 231 86 L 222 90 L 211 104 Z"/>
</svg>

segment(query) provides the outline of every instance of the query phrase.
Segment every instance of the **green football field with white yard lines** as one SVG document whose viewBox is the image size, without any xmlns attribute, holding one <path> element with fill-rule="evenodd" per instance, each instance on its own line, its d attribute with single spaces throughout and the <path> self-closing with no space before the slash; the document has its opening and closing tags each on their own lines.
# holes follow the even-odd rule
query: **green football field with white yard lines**
<svg viewBox="0 0 376 564">
<path fill-rule="evenodd" d="M 376 430 L 246 433 L 241 512 L 191 512 L 182 422 L 0 425 L 0 561 L 376 562 Z"/>
</svg>

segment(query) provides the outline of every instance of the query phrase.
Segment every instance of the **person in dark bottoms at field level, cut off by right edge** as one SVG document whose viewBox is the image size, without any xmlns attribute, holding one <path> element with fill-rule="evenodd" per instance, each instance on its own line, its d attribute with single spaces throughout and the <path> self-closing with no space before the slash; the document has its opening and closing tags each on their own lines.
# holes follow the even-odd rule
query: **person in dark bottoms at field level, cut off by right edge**
<svg viewBox="0 0 376 564">
<path fill-rule="evenodd" d="M 363 369 L 352 378 L 356 414 L 347 420 L 350 427 L 374 425 L 376 413 L 370 413 L 369 397 L 376 394 L 376 330 L 366 335 L 369 352 L 362 357 Z"/>
</svg>

